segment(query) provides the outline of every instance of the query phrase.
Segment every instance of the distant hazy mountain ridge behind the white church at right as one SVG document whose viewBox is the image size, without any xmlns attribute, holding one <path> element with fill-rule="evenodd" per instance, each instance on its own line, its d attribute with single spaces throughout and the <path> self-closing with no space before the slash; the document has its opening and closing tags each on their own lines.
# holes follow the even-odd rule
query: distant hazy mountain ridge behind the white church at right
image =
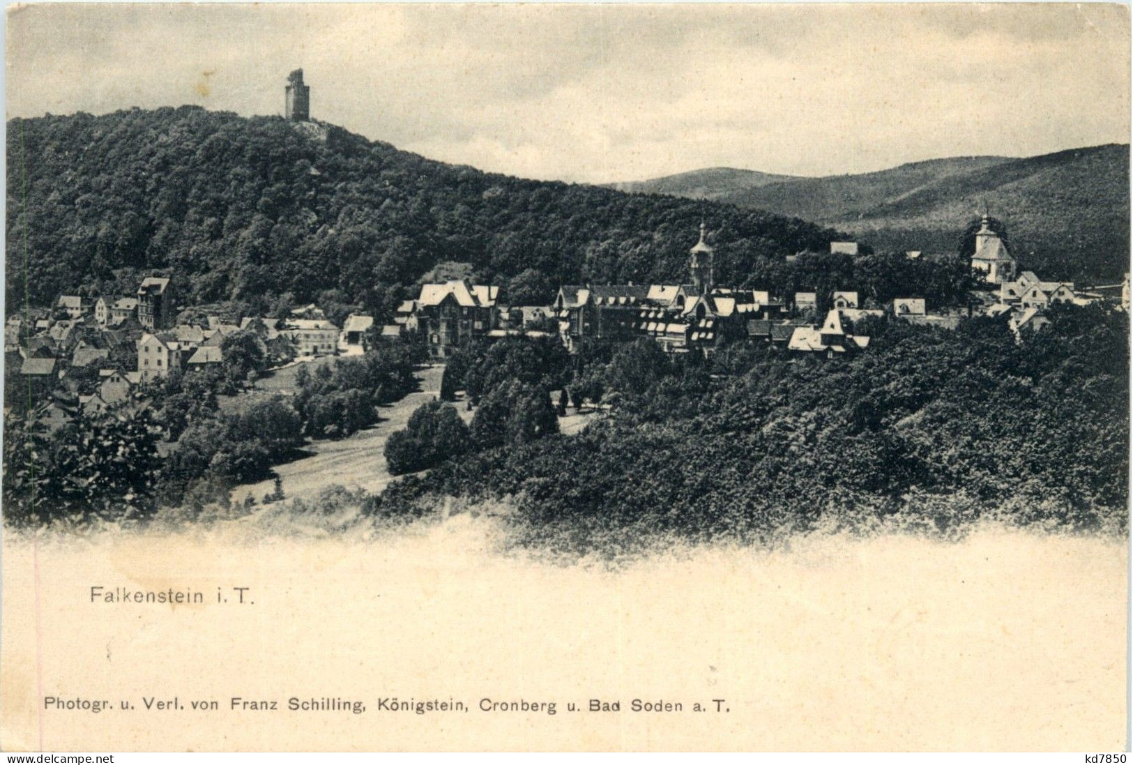
<svg viewBox="0 0 1133 765">
<path fill-rule="evenodd" d="M 757 182 L 747 186 L 752 171 L 714 169 L 617 187 L 799 216 L 851 231 L 878 249 L 954 252 L 960 232 L 987 205 L 1007 224 L 1025 266 L 1091 281 L 1128 270 L 1128 145 L 1107 144 L 1023 159 L 928 160 L 825 178 L 763 182 L 767 173 L 755 173 Z M 713 178 L 721 179 L 718 186 L 710 185 Z M 690 189 L 685 179 L 699 186 Z"/>
</svg>

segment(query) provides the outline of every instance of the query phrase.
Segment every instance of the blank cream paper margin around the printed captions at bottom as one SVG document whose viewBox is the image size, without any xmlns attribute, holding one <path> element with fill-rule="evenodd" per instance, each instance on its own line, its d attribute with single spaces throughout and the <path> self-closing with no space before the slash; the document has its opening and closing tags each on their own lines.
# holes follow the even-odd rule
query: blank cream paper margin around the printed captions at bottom
<svg viewBox="0 0 1133 765">
<path fill-rule="evenodd" d="M 363 541 L 121 536 L 3 547 L 6 750 L 1124 748 L 1124 541 L 987 529 L 685 550 L 610 569 L 501 554 L 468 516 Z M 252 606 L 91 604 L 249 586 Z M 41 698 L 138 709 L 44 711 Z M 145 712 L 143 696 L 221 711 Z M 231 696 L 344 712 L 232 713 Z M 381 696 L 468 713 L 378 712 Z M 555 700 L 485 713 L 480 698 Z M 621 702 L 568 713 L 566 702 Z M 631 699 L 727 714 L 631 713 Z"/>
</svg>

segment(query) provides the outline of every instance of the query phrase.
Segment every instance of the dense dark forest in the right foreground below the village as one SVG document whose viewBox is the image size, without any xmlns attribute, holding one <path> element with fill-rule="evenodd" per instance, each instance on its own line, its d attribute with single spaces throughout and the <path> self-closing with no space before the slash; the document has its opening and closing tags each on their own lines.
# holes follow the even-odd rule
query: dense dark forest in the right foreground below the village
<svg viewBox="0 0 1133 765">
<path fill-rule="evenodd" d="M 837 362 L 750 346 L 667 359 L 649 340 L 595 351 L 566 388 L 608 416 L 577 436 L 474 433 L 468 453 L 392 484 L 370 510 L 502 500 L 521 542 L 572 551 L 886 519 L 946 534 L 982 517 L 1123 529 L 1128 318 L 1051 316 L 1021 343 L 987 317 L 957 331 L 876 322 L 869 352 Z M 563 380 L 546 355 L 500 348 L 486 351 L 499 385 Z"/>
</svg>

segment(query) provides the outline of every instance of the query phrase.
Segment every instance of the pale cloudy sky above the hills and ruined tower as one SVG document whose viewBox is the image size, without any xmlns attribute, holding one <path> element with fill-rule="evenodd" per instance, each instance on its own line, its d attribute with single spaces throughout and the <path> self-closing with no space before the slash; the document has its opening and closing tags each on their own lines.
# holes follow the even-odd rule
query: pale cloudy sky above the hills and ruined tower
<svg viewBox="0 0 1133 765">
<path fill-rule="evenodd" d="M 199 104 L 431 159 L 607 182 L 824 176 L 1130 141 L 1114 5 L 69 5 L 9 8 L 8 117 Z"/>
</svg>

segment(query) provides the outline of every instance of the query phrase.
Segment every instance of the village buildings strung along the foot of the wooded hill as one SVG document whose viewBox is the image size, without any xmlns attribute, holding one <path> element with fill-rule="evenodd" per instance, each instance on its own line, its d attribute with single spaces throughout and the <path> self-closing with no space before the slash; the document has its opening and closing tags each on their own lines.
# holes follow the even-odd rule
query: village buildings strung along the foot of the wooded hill
<svg viewBox="0 0 1133 765">
<path fill-rule="evenodd" d="M 833 241 L 830 253 L 858 254 L 858 243 Z M 910 252 L 908 257 L 920 257 Z M 765 343 L 791 356 L 835 358 L 868 349 L 869 320 L 892 318 L 954 329 L 965 316 L 1005 321 L 1021 338 L 1049 323 L 1058 304 L 1087 305 L 1100 291 L 1075 291 L 1071 282 L 1017 272 L 1014 257 L 985 215 L 976 235 L 973 273 L 983 279 L 966 306 L 931 312 L 921 296 L 887 305 L 863 300 L 852 284 L 829 295 L 719 286 L 705 224 L 689 250 L 689 280 L 680 284 L 564 284 L 551 305 L 510 306 L 501 288 L 465 280 L 420 286 L 398 306 L 389 324 L 349 314 L 341 326 L 317 305 L 287 316 L 230 316 L 178 305 L 169 277 L 147 277 L 131 296 L 60 295 L 50 308 L 28 308 L 8 318 L 8 369 L 50 389 L 42 416 L 56 430 L 78 414 L 97 416 L 144 403 L 146 393 L 174 373 L 193 374 L 224 363 L 225 338 L 242 333 L 272 368 L 333 356 L 356 356 L 382 342 L 424 346 L 445 358 L 476 342 L 557 335 L 568 351 L 595 341 L 650 338 L 667 354 L 713 354 L 734 342 Z M 1117 286 L 1111 286 L 1117 287 Z M 1121 286 L 1128 308 L 1128 277 Z M 188 317 L 188 318 L 186 318 Z M 857 329 L 855 329 L 857 328 Z"/>
</svg>

